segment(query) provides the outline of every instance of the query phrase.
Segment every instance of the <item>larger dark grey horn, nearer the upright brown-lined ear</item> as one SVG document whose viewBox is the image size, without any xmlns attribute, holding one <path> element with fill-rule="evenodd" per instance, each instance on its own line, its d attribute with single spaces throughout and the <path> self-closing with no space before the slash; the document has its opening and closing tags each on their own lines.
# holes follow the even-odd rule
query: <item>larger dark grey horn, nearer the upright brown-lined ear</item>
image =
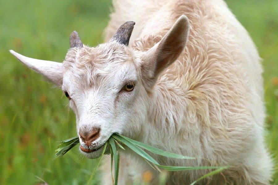
<svg viewBox="0 0 278 185">
<path fill-rule="evenodd" d="M 135 22 L 133 21 L 125 22 L 120 26 L 120 28 L 118 29 L 118 31 L 115 33 L 115 35 L 112 37 L 111 40 L 116 40 L 117 42 L 128 46 L 129 39 L 133 31 L 134 25 Z"/>
</svg>

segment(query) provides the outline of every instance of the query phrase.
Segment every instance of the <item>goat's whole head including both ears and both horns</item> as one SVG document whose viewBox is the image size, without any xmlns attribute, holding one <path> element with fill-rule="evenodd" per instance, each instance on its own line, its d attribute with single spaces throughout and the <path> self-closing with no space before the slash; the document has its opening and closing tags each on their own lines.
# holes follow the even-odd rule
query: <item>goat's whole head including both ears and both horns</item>
<svg viewBox="0 0 278 185">
<path fill-rule="evenodd" d="M 124 23 L 108 43 L 84 46 L 74 31 L 63 63 L 25 57 L 23 64 L 61 86 L 76 114 L 80 150 L 96 158 L 113 133 L 134 138 L 148 123 L 159 74 L 183 51 L 189 22 L 182 15 L 160 42 L 146 52 L 128 47 L 134 22 Z"/>
</svg>

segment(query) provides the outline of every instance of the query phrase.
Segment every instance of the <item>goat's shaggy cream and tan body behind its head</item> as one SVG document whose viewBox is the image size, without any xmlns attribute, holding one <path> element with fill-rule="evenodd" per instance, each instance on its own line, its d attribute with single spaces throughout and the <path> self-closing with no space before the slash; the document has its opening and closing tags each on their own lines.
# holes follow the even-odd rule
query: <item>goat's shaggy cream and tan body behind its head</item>
<svg viewBox="0 0 278 185">
<path fill-rule="evenodd" d="M 272 161 L 263 139 L 260 58 L 225 2 L 121 0 L 113 5 L 106 41 L 121 23 L 133 20 L 136 26 L 130 41 L 139 51 L 158 42 L 181 14 L 187 15 L 191 24 L 185 51 L 155 84 L 149 122 L 144 124 L 140 140 L 210 161 L 158 158 L 167 165 L 234 166 L 202 183 L 269 184 Z M 120 168 L 123 176 L 140 178 L 146 168 L 139 168 L 133 157 L 126 160 L 127 166 Z M 169 184 L 188 184 L 205 172 L 170 173 Z"/>
</svg>

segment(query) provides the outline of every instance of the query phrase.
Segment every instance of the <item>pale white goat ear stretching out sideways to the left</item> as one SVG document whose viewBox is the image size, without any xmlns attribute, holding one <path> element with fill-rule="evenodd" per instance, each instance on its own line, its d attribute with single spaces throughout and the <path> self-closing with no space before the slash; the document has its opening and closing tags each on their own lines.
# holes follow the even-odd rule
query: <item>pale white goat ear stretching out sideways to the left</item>
<svg viewBox="0 0 278 185">
<path fill-rule="evenodd" d="M 34 71 L 42 74 L 50 81 L 55 84 L 61 86 L 63 83 L 63 75 L 64 75 L 64 67 L 62 63 L 52 62 L 47 60 L 38 60 L 32 59 L 19 53 L 10 50 L 11 54 L 13 54 L 20 62 L 27 65 L 29 68 Z"/>
</svg>

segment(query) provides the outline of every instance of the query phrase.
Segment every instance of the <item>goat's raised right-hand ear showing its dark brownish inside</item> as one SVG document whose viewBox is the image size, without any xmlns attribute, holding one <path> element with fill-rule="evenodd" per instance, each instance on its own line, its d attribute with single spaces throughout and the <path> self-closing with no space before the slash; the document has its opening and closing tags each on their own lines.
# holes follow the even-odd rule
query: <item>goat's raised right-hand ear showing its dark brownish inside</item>
<svg viewBox="0 0 278 185">
<path fill-rule="evenodd" d="M 179 17 L 171 29 L 142 56 L 141 71 L 152 86 L 159 74 L 170 66 L 182 53 L 189 35 L 189 21 L 185 15 Z"/>
</svg>

